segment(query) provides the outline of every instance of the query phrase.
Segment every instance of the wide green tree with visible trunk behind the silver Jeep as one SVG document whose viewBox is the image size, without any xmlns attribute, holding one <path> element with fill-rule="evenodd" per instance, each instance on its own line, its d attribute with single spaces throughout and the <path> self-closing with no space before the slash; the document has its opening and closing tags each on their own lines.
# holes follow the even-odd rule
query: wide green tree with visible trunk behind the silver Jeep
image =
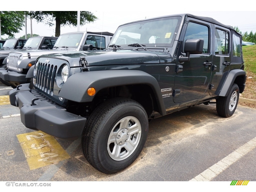
<svg viewBox="0 0 256 192">
<path fill-rule="evenodd" d="M 27 14 L 37 22 L 43 22 L 49 26 L 53 26 L 55 21 L 55 37 L 60 36 L 60 26 L 77 26 L 77 11 L 30 11 Z M 98 18 L 89 11 L 80 12 L 80 25 L 93 22 L 96 19 Z"/>
</svg>

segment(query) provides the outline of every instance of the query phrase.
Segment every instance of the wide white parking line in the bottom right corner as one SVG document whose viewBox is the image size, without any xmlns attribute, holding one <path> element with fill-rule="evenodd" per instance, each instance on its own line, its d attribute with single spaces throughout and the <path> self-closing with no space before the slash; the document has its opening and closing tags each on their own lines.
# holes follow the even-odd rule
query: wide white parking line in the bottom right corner
<svg viewBox="0 0 256 192">
<path fill-rule="evenodd" d="M 225 169 L 230 167 L 233 163 L 237 162 L 241 157 L 256 147 L 256 137 L 248 141 L 246 144 L 237 148 L 236 151 L 230 153 L 228 156 L 221 159 L 218 163 L 212 165 L 190 181 L 210 181 L 217 175 L 222 173 Z"/>
</svg>

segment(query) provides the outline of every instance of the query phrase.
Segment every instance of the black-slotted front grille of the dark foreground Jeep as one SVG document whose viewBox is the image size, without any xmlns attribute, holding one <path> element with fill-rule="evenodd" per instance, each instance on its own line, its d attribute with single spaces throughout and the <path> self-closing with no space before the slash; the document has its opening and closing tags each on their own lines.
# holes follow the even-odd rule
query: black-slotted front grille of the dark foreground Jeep
<svg viewBox="0 0 256 192">
<path fill-rule="evenodd" d="M 36 73 L 36 87 L 53 95 L 54 79 L 57 71 L 57 66 L 47 63 L 39 63 Z"/>
</svg>

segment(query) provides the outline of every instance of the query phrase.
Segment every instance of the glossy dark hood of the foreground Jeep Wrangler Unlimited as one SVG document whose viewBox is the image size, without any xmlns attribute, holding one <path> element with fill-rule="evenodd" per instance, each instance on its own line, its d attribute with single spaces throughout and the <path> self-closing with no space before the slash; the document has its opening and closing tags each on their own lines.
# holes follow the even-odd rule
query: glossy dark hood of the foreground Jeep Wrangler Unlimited
<svg viewBox="0 0 256 192">
<path fill-rule="evenodd" d="M 70 67 L 78 67 L 80 56 L 84 56 L 88 66 L 102 65 L 133 65 L 147 63 L 171 63 L 169 53 L 145 50 L 117 50 L 117 51 L 77 51 L 44 55 L 43 57 L 57 57 L 67 60 Z"/>
</svg>

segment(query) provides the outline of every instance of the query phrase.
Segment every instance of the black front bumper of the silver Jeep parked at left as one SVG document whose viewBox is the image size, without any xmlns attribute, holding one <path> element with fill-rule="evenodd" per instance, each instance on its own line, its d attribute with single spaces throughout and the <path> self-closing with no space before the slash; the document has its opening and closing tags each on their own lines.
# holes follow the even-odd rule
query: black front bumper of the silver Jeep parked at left
<svg viewBox="0 0 256 192">
<path fill-rule="evenodd" d="M 26 83 L 26 74 L 18 73 L 15 71 L 7 71 L 4 68 L 0 68 L 0 78 L 7 82 Z"/>
</svg>

